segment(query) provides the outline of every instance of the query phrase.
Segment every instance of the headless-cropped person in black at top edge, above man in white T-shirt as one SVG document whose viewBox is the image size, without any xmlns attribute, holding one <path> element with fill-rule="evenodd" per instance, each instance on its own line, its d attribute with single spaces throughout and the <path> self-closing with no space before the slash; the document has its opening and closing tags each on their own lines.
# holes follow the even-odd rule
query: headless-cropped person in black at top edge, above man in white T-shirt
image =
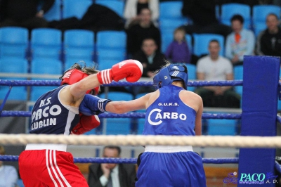
<svg viewBox="0 0 281 187">
<path fill-rule="evenodd" d="M 183 0 L 181 13 L 191 18 L 193 22 L 191 25 L 183 25 L 187 34 L 214 33 L 226 38 L 231 32 L 228 25 L 223 25 L 216 19 L 215 0 Z"/>
</svg>

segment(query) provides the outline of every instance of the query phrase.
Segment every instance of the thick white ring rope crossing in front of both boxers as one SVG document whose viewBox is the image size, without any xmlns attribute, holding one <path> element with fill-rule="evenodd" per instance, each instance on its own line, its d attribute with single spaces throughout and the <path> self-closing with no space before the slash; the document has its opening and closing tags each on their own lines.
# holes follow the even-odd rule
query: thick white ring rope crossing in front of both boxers
<svg viewBox="0 0 281 187">
<path fill-rule="evenodd" d="M 68 145 L 200 146 L 281 148 L 281 136 L 143 136 L 143 135 L 47 135 L 0 134 L 0 144 L 55 143 Z"/>
</svg>

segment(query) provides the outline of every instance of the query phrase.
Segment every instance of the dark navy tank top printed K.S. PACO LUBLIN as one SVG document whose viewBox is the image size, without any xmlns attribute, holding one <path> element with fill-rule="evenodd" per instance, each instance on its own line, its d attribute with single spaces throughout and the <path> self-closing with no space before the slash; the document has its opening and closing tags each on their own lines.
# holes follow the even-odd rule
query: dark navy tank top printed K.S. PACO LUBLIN
<svg viewBox="0 0 281 187">
<path fill-rule="evenodd" d="M 60 103 L 58 93 L 67 85 L 44 93 L 34 104 L 30 134 L 65 134 L 79 122 L 78 108 Z"/>
</svg>

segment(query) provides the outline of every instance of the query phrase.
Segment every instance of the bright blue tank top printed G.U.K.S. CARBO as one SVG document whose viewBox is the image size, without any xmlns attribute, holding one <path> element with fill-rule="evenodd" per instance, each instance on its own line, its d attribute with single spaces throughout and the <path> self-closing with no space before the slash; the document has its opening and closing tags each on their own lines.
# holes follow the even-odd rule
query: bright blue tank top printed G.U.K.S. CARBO
<svg viewBox="0 0 281 187">
<path fill-rule="evenodd" d="M 196 112 L 179 98 L 182 90 L 183 88 L 174 85 L 159 89 L 159 98 L 145 113 L 144 135 L 195 136 Z"/>
</svg>

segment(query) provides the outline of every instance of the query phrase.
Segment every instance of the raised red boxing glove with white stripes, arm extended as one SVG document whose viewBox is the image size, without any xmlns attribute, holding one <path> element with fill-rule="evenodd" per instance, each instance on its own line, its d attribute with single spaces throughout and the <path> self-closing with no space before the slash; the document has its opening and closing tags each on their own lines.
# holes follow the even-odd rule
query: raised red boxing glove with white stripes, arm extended
<svg viewBox="0 0 281 187">
<path fill-rule="evenodd" d="M 100 84 L 110 84 L 126 78 L 128 82 L 136 82 L 143 74 L 143 65 L 138 60 L 124 60 L 112 66 L 111 69 L 98 72 Z"/>
</svg>

